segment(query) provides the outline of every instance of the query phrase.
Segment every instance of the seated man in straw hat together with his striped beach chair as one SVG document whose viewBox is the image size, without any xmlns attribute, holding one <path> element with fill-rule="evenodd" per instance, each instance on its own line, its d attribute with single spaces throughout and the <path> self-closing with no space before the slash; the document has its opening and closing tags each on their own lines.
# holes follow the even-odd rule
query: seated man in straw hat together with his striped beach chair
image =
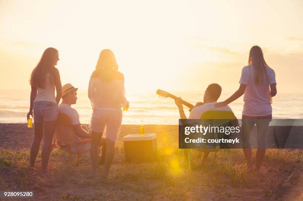
<svg viewBox="0 0 303 201">
<path fill-rule="evenodd" d="M 72 131 L 76 135 L 74 136 L 75 142 L 72 143 L 70 146 L 70 152 L 71 153 L 79 153 L 79 146 L 78 144 L 81 144 L 81 152 L 86 152 L 91 149 L 91 138 L 92 134 L 89 132 L 88 128 L 85 125 L 81 125 L 80 118 L 77 110 L 71 107 L 71 105 L 76 104 L 77 102 L 77 89 L 70 83 L 67 83 L 62 86 L 62 103 L 59 105 L 59 118 L 58 118 L 58 127 L 60 125 L 68 125 L 72 126 Z M 67 123 L 63 122 L 66 121 Z M 61 121 L 61 122 L 60 122 Z M 64 134 L 64 131 L 61 132 Z M 67 137 L 67 136 L 65 136 Z M 64 138 L 64 137 L 63 137 Z M 68 138 L 68 137 L 67 137 Z M 87 140 L 84 140 L 87 139 Z M 58 139 L 59 141 L 59 139 Z M 66 146 L 66 143 L 60 142 L 61 146 Z M 76 144 L 76 145 L 75 145 Z M 101 161 L 100 164 L 104 163 L 104 156 L 105 156 L 105 140 L 101 140 Z"/>
</svg>

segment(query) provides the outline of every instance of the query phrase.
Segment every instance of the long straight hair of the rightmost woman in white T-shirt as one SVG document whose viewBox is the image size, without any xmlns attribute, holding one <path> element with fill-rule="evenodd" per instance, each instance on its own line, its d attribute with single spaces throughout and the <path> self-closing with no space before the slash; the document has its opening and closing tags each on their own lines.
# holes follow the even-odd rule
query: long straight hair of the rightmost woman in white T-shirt
<svg viewBox="0 0 303 201">
<path fill-rule="evenodd" d="M 253 65 L 255 83 L 264 84 L 264 80 L 267 80 L 266 67 L 268 65 L 264 60 L 261 47 L 255 45 L 251 48 L 248 64 Z"/>
</svg>

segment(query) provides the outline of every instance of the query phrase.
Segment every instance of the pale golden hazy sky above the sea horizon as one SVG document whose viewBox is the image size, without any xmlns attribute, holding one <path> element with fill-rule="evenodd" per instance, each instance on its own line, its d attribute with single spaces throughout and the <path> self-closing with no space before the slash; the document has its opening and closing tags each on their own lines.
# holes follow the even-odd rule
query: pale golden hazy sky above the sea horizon
<svg viewBox="0 0 303 201">
<path fill-rule="evenodd" d="M 30 89 L 47 47 L 62 84 L 86 89 L 100 51 L 111 49 L 126 92 L 223 91 L 239 85 L 259 45 L 278 92 L 303 92 L 302 0 L 0 0 L 0 90 Z"/>
</svg>

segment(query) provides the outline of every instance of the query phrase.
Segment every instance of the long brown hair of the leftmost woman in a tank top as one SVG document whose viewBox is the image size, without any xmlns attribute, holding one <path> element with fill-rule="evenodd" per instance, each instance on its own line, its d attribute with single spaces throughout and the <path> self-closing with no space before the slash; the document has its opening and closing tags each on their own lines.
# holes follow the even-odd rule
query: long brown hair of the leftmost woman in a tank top
<svg viewBox="0 0 303 201">
<path fill-rule="evenodd" d="M 36 68 L 32 71 L 30 84 L 44 88 L 46 84 L 46 75 L 50 74 L 50 81 L 53 82 L 52 73 L 54 69 L 54 59 L 58 50 L 49 47 L 44 50 L 42 57 L 37 64 Z"/>
</svg>

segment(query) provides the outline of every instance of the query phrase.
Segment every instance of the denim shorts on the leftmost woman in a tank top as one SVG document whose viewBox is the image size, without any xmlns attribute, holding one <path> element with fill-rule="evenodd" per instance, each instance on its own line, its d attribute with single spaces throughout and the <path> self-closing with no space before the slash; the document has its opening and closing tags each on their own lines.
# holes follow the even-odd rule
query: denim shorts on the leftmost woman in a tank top
<svg viewBox="0 0 303 201">
<path fill-rule="evenodd" d="M 34 121 L 55 121 L 58 118 L 58 105 L 50 101 L 34 102 Z"/>
</svg>

